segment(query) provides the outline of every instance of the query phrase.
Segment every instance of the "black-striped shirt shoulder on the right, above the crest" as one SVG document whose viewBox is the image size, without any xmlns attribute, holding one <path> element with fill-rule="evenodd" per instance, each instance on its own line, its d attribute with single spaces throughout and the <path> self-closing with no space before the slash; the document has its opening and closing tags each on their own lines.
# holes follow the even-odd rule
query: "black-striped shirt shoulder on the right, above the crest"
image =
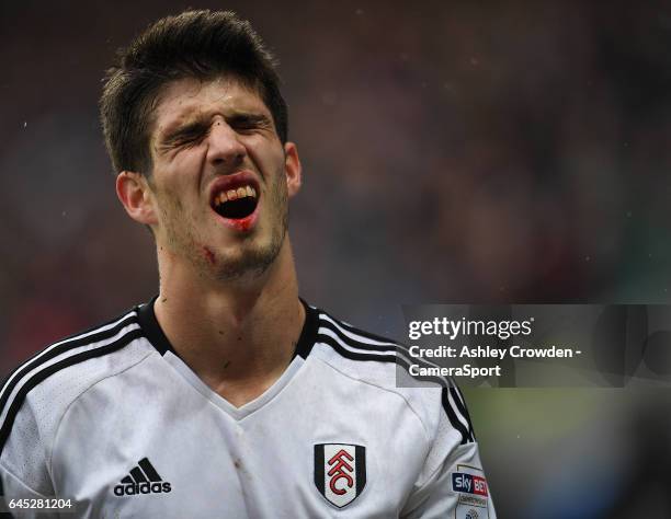
<svg viewBox="0 0 671 519">
<path fill-rule="evenodd" d="M 417 415 L 430 437 L 447 434 L 457 443 L 475 441 L 466 401 L 452 379 L 431 384 L 409 378 L 407 347 L 311 307 L 316 315 L 311 355 L 361 383 L 393 393 Z"/>
</svg>

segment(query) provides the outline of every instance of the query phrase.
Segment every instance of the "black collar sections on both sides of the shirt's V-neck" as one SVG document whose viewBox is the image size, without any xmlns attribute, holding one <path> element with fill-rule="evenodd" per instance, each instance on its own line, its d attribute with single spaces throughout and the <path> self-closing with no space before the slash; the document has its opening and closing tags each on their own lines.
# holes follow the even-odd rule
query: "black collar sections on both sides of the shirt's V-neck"
<svg viewBox="0 0 671 519">
<path fill-rule="evenodd" d="M 179 357 L 178 353 L 170 344 L 170 341 L 168 341 L 168 337 L 166 337 L 163 330 L 161 330 L 161 326 L 156 319 L 153 303 L 157 299 L 158 296 L 151 299 L 151 301 L 148 303 L 141 304 L 137 308 L 139 324 L 145 332 L 145 336 L 161 355 L 166 355 L 167 351 L 171 351 L 173 355 Z M 300 337 L 298 337 L 298 343 L 296 344 L 296 349 L 294 350 L 294 356 L 292 359 L 296 358 L 296 356 L 300 356 L 306 359 L 308 355 L 310 355 L 317 337 L 317 328 L 319 327 L 318 310 L 310 307 L 303 299 L 300 299 L 300 302 L 305 308 L 305 323 L 303 324 Z"/>
</svg>

